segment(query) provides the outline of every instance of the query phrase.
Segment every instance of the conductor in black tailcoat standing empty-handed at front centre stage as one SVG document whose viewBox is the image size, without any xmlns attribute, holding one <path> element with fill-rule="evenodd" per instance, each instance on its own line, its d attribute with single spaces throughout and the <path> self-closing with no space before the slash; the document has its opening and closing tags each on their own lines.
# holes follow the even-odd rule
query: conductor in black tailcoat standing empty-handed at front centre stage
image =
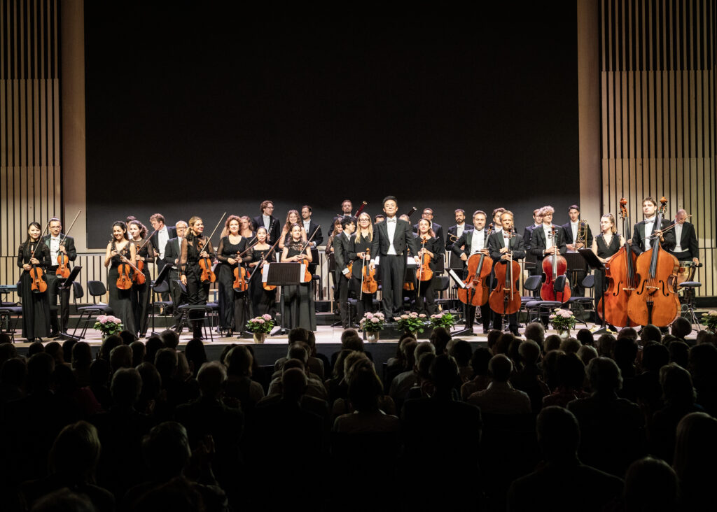
<svg viewBox="0 0 717 512">
<path fill-rule="evenodd" d="M 401 314 L 403 306 L 403 283 L 406 271 L 407 249 L 412 254 L 418 254 L 418 239 L 413 236 L 411 224 L 396 217 L 398 204 L 393 195 L 384 198 L 384 213 L 386 221 L 376 224 L 374 228 L 374 244 L 371 247 L 371 267 L 376 264 L 379 257 L 381 266 L 381 294 L 383 295 L 383 308 L 386 319 Z M 418 258 L 414 256 L 416 263 Z"/>
</svg>

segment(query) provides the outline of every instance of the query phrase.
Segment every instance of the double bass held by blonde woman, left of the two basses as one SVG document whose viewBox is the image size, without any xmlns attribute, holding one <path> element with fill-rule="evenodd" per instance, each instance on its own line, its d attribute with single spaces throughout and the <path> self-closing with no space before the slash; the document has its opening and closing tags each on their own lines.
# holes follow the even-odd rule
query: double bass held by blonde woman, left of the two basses
<svg viewBox="0 0 717 512">
<path fill-rule="evenodd" d="M 632 252 L 630 241 L 630 218 L 627 216 L 627 199 L 620 199 L 620 218 L 622 218 L 622 232 L 625 233 L 625 246 L 619 248 L 612 258 L 605 264 L 605 279 L 607 286 L 597 303 L 597 314 L 604 321 L 617 327 L 635 327 L 635 322 L 627 316 L 627 301 L 635 289 L 635 260 L 637 256 Z M 617 236 L 617 235 L 613 235 Z"/>
</svg>

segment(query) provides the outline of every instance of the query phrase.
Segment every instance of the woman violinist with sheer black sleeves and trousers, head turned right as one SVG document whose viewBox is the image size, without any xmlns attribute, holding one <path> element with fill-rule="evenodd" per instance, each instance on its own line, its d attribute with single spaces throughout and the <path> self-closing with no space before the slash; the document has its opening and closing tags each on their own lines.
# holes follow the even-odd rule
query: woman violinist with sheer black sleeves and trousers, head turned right
<svg viewBox="0 0 717 512">
<path fill-rule="evenodd" d="M 186 286 L 187 302 L 189 304 L 206 304 L 209 296 L 209 283 L 201 281 L 201 266 L 199 261 L 211 259 L 214 248 L 209 237 L 204 236 L 204 221 L 194 216 L 189 219 L 189 231 L 181 241 L 181 256 L 179 256 L 179 279 Z M 205 260 L 206 261 L 206 260 Z M 192 311 L 189 322 L 192 335 L 201 339 L 201 326 L 204 323 L 204 311 Z"/>
</svg>

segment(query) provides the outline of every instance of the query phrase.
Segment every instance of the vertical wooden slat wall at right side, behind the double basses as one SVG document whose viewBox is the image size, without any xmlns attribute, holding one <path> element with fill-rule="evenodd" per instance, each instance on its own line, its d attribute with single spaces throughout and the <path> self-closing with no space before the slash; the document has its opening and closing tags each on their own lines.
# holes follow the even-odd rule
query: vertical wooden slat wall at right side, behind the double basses
<svg viewBox="0 0 717 512">
<path fill-rule="evenodd" d="M 713 0 L 602 0 L 602 206 L 642 220 L 642 198 L 668 198 L 693 215 L 705 265 L 699 294 L 715 280 L 715 5 Z M 617 217 L 617 215 L 616 215 Z"/>
</svg>

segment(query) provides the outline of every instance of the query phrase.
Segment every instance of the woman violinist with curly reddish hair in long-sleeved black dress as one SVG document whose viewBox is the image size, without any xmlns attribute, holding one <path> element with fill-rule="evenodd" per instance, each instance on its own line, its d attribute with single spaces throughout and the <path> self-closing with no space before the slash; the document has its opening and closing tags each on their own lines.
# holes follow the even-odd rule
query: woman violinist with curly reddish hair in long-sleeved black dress
<svg viewBox="0 0 717 512">
<path fill-rule="evenodd" d="M 219 271 L 217 282 L 219 284 L 219 329 L 232 333 L 241 333 L 244 325 L 247 324 L 249 307 L 247 302 L 247 291 L 234 289 L 234 269 L 243 266 L 244 262 L 250 261 L 252 256 L 247 252 L 247 238 L 239 234 L 241 219 L 235 215 L 227 217 L 224 228 L 227 236 L 222 237 L 217 248 L 217 260 L 219 260 Z M 239 254 L 244 256 L 239 258 Z M 239 269 L 241 271 L 241 269 Z"/>
</svg>

